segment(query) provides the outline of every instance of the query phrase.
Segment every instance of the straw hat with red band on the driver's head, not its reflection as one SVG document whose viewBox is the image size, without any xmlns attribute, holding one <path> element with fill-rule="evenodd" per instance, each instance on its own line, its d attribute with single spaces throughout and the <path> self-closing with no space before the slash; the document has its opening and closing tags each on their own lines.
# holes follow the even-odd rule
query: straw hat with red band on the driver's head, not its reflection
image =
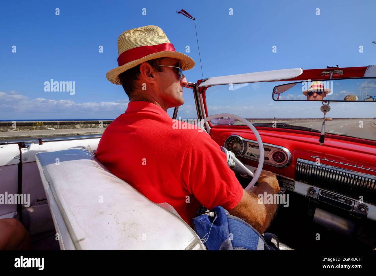
<svg viewBox="0 0 376 276">
<path fill-rule="evenodd" d="M 183 71 L 194 67 L 189 56 L 176 52 L 166 34 L 158 26 L 144 26 L 127 30 L 118 38 L 118 67 L 108 71 L 106 78 L 121 84 L 119 74 L 147 60 L 172 57 L 181 61 Z"/>
</svg>

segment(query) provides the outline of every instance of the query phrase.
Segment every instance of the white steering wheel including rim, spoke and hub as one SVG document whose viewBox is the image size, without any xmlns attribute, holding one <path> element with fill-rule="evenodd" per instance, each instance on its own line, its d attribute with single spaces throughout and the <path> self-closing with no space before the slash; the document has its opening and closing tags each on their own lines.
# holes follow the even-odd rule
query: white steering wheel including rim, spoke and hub
<svg viewBox="0 0 376 276">
<path fill-rule="evenodd" d="M 233 154 L 232 151 L 227 151 L 227 149 L 221 147 L 222 149 L 224 149 L 225 151 L 227 151 L 227 153 L 229 154 L 229 155 L 227 155 L 227 158 L 232 159 L 236 164 L 238 164 L 238 166 L 240 166 L 243 170 L 245 170 L 248 175 L 253 176 L 252 181 L 244 189 L 246 191 L 250 190 L 255 185 L 257 179 L 259 178 L 259 176 L 261 174 L 262 166 L 264 166 L 264 145 L 262 144 L 262 140 L 261 140 L 260 134 L 258 133 L 258 131 L 256 130 L 256 128 L 249 121 L 247 121 L 243 117 L 240 117 L 240 116 L 235 115 L 235 114 L 229 114 L 229 113 L 219 113 L 219 114 L 216 114 L 216 115 L 208 116 L 205 119 L 202 119 L 197 124 L 197 126 L 201 127 L 203 130 L 205 130 L 205 128 L 203 128 L 203 124 L 205 124 L 206 122 L 208 122 L 211 119 L 215 119 L 215 118 L 218 118 L 218 117 L 230 117 L 230 118 L 238 119 L 239 121 L 241 121 L 244 124 L 246 124 L 253 131 L 253 134 L 255 134 L 255 136 L 256 136 L 257 142 L 259 144 L 259 151 L 260 151 L 259 155 L 260 155 L 260 157 L 259 157 L 259 163 L 258 163 L 256 172 L 255 172 L 255 175 L 253 175 L 253 173 L 246 166 L 244 166 L 244 164 L 241 163 L 241 161 L 239 161 L 238 158 L 235 157 L 235 155 Z M 227 160 L 227 161 L 229 161 L 229 160 Z M 227 164 L 229 164 L 229 163 L 227 162 Z"/>
</svg>

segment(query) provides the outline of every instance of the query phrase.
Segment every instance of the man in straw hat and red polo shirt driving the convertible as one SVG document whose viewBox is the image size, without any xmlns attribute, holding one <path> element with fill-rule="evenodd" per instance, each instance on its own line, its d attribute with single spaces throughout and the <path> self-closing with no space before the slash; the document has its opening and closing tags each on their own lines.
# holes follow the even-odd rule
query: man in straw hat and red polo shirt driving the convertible
<svg viewBox="0 0 376 276">
<path fill-rule="evenodd" d="M 118 67 L 106 77 L 123 86 L 130 102 L 104 131 L 97 159 L 151 201 L 170 204 L 190 225 L 198 207 L 222 206 L 263 233 L 277 205 L 259 204 L 257 195 L 278 193 L 276 176 L 263 171 L 245 192 L 209 134 L 176 129 L 167 114 L 184 103 L 183 70 L 194 61 L 176 52 L 157 26 L 121 33 L 118 53 Z"/>
</svg>

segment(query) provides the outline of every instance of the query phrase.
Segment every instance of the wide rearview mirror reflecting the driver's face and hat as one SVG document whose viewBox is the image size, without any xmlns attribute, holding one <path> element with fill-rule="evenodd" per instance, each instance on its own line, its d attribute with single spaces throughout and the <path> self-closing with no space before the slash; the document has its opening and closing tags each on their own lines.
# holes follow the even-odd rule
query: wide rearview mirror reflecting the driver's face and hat
<svg viewBox="0 0 376 276">
<path fill-rule="evenodd" d="M 299 81 L 273 89 L 274 101 L 376 101 L 376 78 Z"/>
</svg>

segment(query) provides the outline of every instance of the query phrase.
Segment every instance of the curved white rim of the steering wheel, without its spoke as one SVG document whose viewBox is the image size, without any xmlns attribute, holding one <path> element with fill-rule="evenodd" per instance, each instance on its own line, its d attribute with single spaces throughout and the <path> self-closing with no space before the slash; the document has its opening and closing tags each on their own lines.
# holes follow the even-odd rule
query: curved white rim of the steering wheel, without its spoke
<svg viewBox="0 0 376 276">
<path fill-rule="evenodd" d="M 197 126 L 203 128 L 203 124 L 205 124 L 206 122 L 208 122 L 211 119 L 215 119 L 215 118 L 218 118 L 218 117 L 230 117 L 230 118 L 238 119 L 239 121 L 246 124 L 253 131 L 253 134 L 255 134 L 255 136 L 256 136 L 256 139 L 257 139 L 257 142 L 258 142 L 258 145 L 259 145 L 259 155 L 260 155 L 260 157 L 259 157 L 259 163 L 258 163 L 258 166 L 257 166 L 257 169 L 256 169 L 256 173 L 254 174 L 252 181 L 244 189 L 244 190 L 247 191 L 247 190 L 251 189 L 256 184 L 257 179 L 259 178 L 259 176 L 261 174 L 262 167 L 264 166 L 264 145 L 262 144 L 260 134 L 258 133 L 256 128 L 249 121 L 247 121 L 243 117 L 240 117 L 240 116 L 235 115 L 235 114 L 230 114 L 230 113 L 219 113 L 219 114 L 215 114 L 215 115 L 210 115 L 210 116 L 206 117 L 205 119 L 202 119 L 197 124 Z"/>
</svg>

